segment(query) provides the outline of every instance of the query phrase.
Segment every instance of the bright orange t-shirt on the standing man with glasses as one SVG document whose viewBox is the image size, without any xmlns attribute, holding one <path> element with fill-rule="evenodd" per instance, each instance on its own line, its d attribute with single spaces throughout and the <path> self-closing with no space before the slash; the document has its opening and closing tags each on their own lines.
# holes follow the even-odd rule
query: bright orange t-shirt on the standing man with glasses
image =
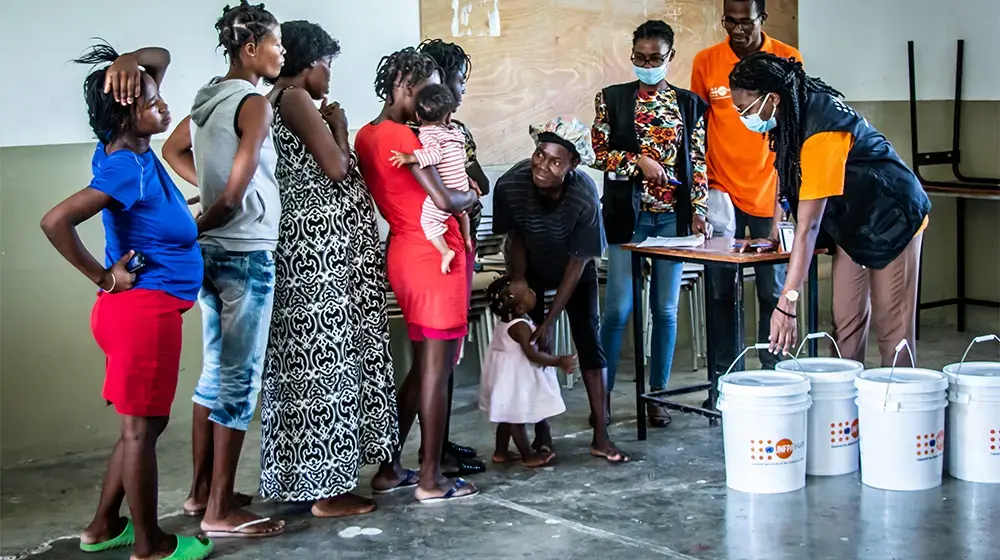
<svg viewBox="0 0 1000 560">
<path fill-rule="evenodd" d="M 766 34 L 761 50 L 802 61 L 798 49 Z M 729 193 L 747 214 L 769 218 L 774 216 L 778 173 L 767 135 L 750 132 L 733 107 L 729 73 L 739 61 L 726 39 L 699 52 L 691 68 L 691 91 L 709 103 L 708 184 Z"/>
</svg>

